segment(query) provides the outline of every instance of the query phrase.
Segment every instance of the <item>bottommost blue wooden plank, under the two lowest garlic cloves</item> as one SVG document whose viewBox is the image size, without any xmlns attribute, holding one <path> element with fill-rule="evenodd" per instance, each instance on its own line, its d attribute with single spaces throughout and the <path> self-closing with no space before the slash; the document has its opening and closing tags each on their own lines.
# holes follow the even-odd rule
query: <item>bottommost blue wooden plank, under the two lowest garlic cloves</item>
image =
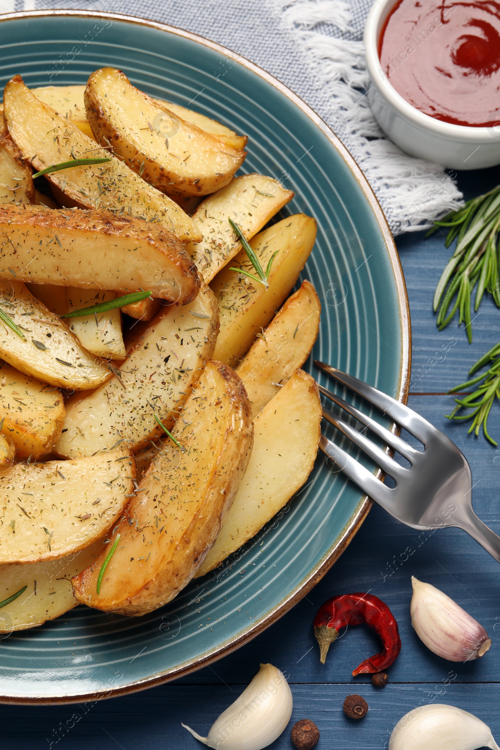
<svg viewBox="0 0 500 750">
<path fill-rule="evenodd" d="M 448 682 L 448 680 L 450 682 Z M 151 748 L 202 747 L 181 721 L 206 736 L 213 721 L 241 694 L 245 685 L 165 685 L 116 700 L 85 706 L 4 706 L 3 750 L 151 750 Z M 472 688 L 454 679 L 446 667 L 436 682 L 418 685 L 391 684 L 385 688 L 361 685 L 356 692 L 367 700 L 362 721 L 343 712 L 343 700 L 352 685 L 291 685 L 294 707 L 283 734 L 270 750 L 292 748 L 290 730 L 301 718 L 319 727 L 321 748 L 387 748 L 394 724 L 416 706 L 448 703 L 470 711 L 490 725 L 500 738 L 498 706 L 500 685 Z M 51 744 L 52 743 L 52 744 Z"/>
</svg>

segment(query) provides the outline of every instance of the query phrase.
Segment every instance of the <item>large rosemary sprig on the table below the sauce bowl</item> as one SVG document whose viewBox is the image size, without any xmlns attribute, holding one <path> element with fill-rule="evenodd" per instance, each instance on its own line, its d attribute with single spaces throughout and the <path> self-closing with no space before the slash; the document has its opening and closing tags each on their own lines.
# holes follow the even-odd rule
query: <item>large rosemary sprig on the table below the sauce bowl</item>
<svg viewBox="0 0 500 750">
<path fill-rule="evenodd" d="M 459 325 L 466 323 L 471 344 L 472 292 L 476 285 L 475 311 L 478 311 L 485 292 L 490 293 L 500 307 L 500 185 L 435 221 L 427 236 L 440 226 L 448 227 L 446 247 L 449 248 L 454 239 L 457 239 L 457 247 L 434 293 L 434 311 L 438 313 L 436 323 L 442 331 L 458 310 Z"/>
</svg>

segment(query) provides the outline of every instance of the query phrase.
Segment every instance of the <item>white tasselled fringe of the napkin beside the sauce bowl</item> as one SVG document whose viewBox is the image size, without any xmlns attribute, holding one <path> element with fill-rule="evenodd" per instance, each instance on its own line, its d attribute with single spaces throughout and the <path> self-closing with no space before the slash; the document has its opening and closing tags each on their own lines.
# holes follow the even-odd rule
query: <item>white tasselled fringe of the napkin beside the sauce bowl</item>
<svg viewBox="0 0 500 750">
<path fill-rule="evenodd" d="M 348 3 L 277 2 L 283 23 L 298 37 L 311 80 L 322 98 L 327 95 L 323 117 L 367 176 L 394 235 L 429 229 L 433 220 L 463 205 L 455 172 L 405 154 L 373 117 L 366 97 L 370 80 L 364 43 L 353 28 Z M 331 35 L 339 32 L 347 38 Z"/>
</svg>

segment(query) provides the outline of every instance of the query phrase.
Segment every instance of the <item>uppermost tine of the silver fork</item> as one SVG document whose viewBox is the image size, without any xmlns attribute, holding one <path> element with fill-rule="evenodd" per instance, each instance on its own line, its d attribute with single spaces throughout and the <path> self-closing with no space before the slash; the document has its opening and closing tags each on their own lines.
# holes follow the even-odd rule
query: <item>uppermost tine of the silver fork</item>
<svg viewBox="0 0 500 750">
<path fill-rule="evenodd" d="M 430 425 L 426 419 L 409 409 L 409 407 L 400 404 L 400 401 L 396 401 L 395 398 L 391 398 L 391 396 L 382 393 L 382 391 L 373 388 L 373 386 L 369 386 L 363 380 L 358 380 L 357 377 L 352 377 L 352 375 L 347 375 L 337 370 L 337 368 L 332 368 L 331 365 L 326 365 L 325 362 L 318 362 L 315 359 L 314 364 L 317 368 L 331 375 L 335 380 L 338 380 L 339 383 L 342 383 L 343 386 L 347 386 L 347 388 L 350 388 L 355 393 L 366 398 L 367 401 L 370 401 L 370 404 L 374 404 L 385 414 L 388 414 L 391 419 L 394 419 L 394 422 L 404 427 L 410 434 L 415 435 L 424 445 L 426 440 L 433 434 L 436 434 L 437 431 L 433 425 Z"/>
</svg>

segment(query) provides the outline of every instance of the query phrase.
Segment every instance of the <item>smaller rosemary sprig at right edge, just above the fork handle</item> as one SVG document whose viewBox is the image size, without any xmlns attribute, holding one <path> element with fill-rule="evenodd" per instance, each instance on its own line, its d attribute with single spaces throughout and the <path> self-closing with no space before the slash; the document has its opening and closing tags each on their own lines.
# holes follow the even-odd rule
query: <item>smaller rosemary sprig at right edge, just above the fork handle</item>
<svg viewBox="0 0 500 750">
<path fill-rule="evenodd" d="M 457 393 L 463 389 L 475 386 L 477 383 L 481 383 L 481 380 L 483 381 L 474 393 L 467 395 L 465 398 L 456 398 L 457 406 L 451 414 L 447 414 L 446 416 L 448 419 L 460 419 L 461 421 L 472 419 L 469 433 L 475 432 L 478 435 L 482 426 L 484 437 L 490 443 L 493 443 L 493 446 L 497 446 L 498 443 L 488 434 L 488 415 L 495 399 L 500 399 L 500 344 L 496 344 L 493 349 L 490 349 L 481 359 L 478 359 L 478 362 L 470 369 L 469 375 L 474 375 L 490 362 L 493 362 L 493 365 L 491 365 L 486 374 L 478 375 L 478 377 L 467 380 L 466 383 L 461 383 L 460 386 L 455 386 L 451 391 L 448 391 L 448 393 Z M 458 415 L 461 409 L 469 409 L 472 412 L 463 416 Z"/>
</svg>

